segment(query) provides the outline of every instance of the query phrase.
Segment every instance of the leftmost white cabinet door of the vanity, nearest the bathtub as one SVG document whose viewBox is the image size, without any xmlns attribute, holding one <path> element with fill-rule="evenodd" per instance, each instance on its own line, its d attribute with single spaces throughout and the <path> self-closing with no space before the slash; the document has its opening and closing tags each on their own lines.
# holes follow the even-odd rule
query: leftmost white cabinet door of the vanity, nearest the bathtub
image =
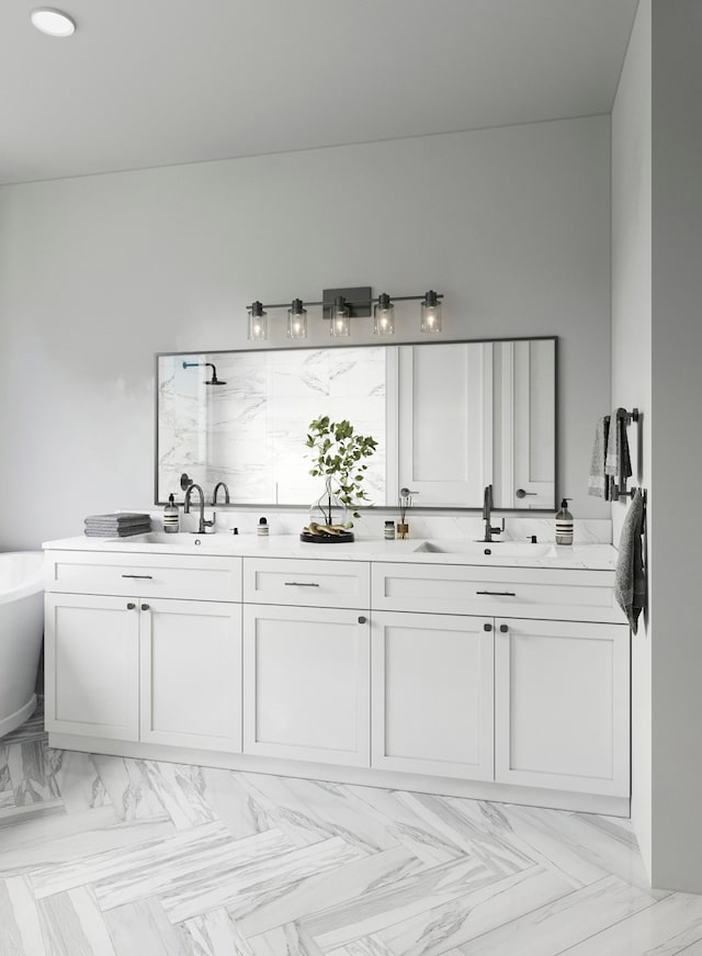
<svg viewBox="0 0 702 956">
<path fill-rule="evenodd" d="M 136 598 L 47 594 L 46 729 L 138 740 L 138 642 Z"/>
</svg>

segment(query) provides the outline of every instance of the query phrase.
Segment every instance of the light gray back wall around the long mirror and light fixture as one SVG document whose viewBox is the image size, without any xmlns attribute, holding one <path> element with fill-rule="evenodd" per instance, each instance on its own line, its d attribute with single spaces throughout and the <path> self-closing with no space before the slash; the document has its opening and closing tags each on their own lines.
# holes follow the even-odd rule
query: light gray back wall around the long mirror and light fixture
<svg viewBox="0 0 702 956">
<path fill-rule="evenodd" d="M 609 125 L 0 189 L 0 548 L 152 502 L 155 351 L 242 347 L 253 299 L 347 284 L 444 292 L 446 337 L 562 336 L 561 492 L 576 517 L 609 517 L 587 496 L 610 405 Z M 398 338 L 419 337 L 408 323 Z M 310 345 L 328 341 L 321 326 Z M 371 339 L 370 320 L 355 329 Z"/>
</svg>

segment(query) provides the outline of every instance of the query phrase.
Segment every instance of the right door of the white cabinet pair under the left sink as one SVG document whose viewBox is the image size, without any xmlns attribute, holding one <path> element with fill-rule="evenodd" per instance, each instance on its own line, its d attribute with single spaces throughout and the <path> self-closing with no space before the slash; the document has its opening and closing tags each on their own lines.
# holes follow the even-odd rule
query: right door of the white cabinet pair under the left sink
<svg viewBox="0 0 702 956">
<path fill-rule="evenodd" d="M 241 605 L 139 603 L 140 739 L 241 752 Z"/>
</svg>

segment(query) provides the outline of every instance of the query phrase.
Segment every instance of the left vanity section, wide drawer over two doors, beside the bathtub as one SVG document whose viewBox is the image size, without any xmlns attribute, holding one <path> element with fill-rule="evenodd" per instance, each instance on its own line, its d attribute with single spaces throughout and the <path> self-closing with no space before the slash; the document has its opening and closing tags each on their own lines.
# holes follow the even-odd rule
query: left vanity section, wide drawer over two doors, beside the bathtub
<svg viewBox="0 0 702 956">
<path fill-rule="evenodd" d="M 46 591 L 49 733 L 241 751 L 241 559 L 49 551 Z"/>
</svg>

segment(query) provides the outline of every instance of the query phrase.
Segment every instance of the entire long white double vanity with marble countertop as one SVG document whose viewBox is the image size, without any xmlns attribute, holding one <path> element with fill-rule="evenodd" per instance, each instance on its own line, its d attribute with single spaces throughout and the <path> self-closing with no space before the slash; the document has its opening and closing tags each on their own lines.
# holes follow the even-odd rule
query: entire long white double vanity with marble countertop
<svg viewBox="0 0 702 956">
<path fill-rule="evenodd" d="M 52 746 L 629 816 L 610 546 L 45 548 Z"/>
</svg>

